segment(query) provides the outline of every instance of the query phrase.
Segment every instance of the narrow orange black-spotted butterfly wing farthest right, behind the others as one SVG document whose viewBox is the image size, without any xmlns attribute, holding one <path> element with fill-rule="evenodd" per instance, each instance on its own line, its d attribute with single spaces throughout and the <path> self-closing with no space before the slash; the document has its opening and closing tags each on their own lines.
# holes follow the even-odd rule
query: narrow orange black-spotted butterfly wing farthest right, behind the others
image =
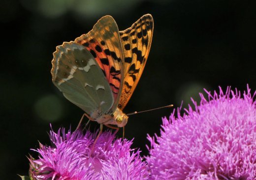
<svg viewBox="0 0 256 180">
<path fill-rule="evenodd" d="M 153 18 L 142 16 L 130 28 L 120 31 L 124 52 L 124 85 L 118 107 L 123 110 L 128 103 L 145 67 L 153 36 Z"/>
</svg>

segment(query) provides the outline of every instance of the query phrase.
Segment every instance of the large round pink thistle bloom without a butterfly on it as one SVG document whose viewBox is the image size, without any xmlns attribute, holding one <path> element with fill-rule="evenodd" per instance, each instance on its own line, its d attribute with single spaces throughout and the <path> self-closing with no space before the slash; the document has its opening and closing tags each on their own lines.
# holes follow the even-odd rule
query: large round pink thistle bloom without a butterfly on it
<svg viewBox="0 0 256 180">
<path fill-rule="evenodd" d="M 250 93 L 227 88 L 203 94 L 177 118 L 163 118 L 160 137 L 148 136 L 151 179 L 255 180 L 256 101 Z"/>
</svg>

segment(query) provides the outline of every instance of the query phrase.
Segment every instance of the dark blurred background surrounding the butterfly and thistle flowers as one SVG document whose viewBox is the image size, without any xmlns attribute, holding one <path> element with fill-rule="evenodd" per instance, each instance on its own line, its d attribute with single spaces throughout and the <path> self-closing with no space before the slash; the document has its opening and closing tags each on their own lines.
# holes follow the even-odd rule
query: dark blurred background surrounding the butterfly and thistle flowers
<svg viewBox="0 0 256 180">
<path fill-rule="evenodd" d="M 183 107 L 207 90 L 256 89 L 255 0 L 1 0 L 0 176 L 28 175 L 26 156 L 50 144 L 51 123 L 72 130 L 83 112 L 51 82 L 52 53 L 111 15 L 125 30 L 146 13 L 154 18 L 148 62 L 125 112 L 168 104 Z M 147 133 L 159 134 L 163 109 L 129 117 L 126 138 L 148 153 Z M 97 123 L 91 123 L 97 128 Z M 122 136 L 122 130 L 119 132 Z M 7 178 L 8 177 L 8 178 Z"/>
</svg>

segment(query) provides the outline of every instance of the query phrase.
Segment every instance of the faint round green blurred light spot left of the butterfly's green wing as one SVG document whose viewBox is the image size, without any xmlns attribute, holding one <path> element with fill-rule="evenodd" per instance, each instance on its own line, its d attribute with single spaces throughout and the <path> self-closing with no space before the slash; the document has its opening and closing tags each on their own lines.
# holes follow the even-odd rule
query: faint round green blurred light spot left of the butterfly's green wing
<svg viewBox="0 0 256 180">
<path fill-rule="evenodd" d="M 34 104 L 36 115 L 47 122 L 57 121 L 62 117 L 63 106 L 55 95 L 45 95 Z"/>
</svg>

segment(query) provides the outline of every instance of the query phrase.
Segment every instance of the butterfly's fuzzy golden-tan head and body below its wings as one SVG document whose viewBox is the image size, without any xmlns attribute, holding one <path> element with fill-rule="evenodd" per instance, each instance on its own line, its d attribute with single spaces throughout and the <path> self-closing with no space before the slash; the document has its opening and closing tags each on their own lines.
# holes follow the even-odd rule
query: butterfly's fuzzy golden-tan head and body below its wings
<svg viewBox="0 0 256 180">
<path fill-rule="evenodd" d="M 128 116 L 119 108 L 113 114 L 102 114 L 99 110 L 96 110 L 91 114 L 91 118 L 98 123 L 113 124 L 118 127 L 124 127 L 128 121 Z"/>
</svg>

